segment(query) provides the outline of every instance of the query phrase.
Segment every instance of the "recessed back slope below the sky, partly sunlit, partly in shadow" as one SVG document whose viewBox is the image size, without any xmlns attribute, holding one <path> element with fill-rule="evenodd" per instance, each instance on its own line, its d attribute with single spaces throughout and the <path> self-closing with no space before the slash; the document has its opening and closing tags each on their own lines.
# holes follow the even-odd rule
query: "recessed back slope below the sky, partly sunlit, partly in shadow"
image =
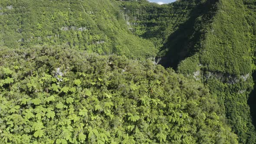
<svg viewBox="0 0 256 144">
<path fill-rule="evenodd" d="M 131 31 L 154 43 L 161 65 L 176 69 L 181 60 L 198 51 L 216 1 L 180 0 L 168 5 L 125 2 L 123 7 Z"/>
</svg>

